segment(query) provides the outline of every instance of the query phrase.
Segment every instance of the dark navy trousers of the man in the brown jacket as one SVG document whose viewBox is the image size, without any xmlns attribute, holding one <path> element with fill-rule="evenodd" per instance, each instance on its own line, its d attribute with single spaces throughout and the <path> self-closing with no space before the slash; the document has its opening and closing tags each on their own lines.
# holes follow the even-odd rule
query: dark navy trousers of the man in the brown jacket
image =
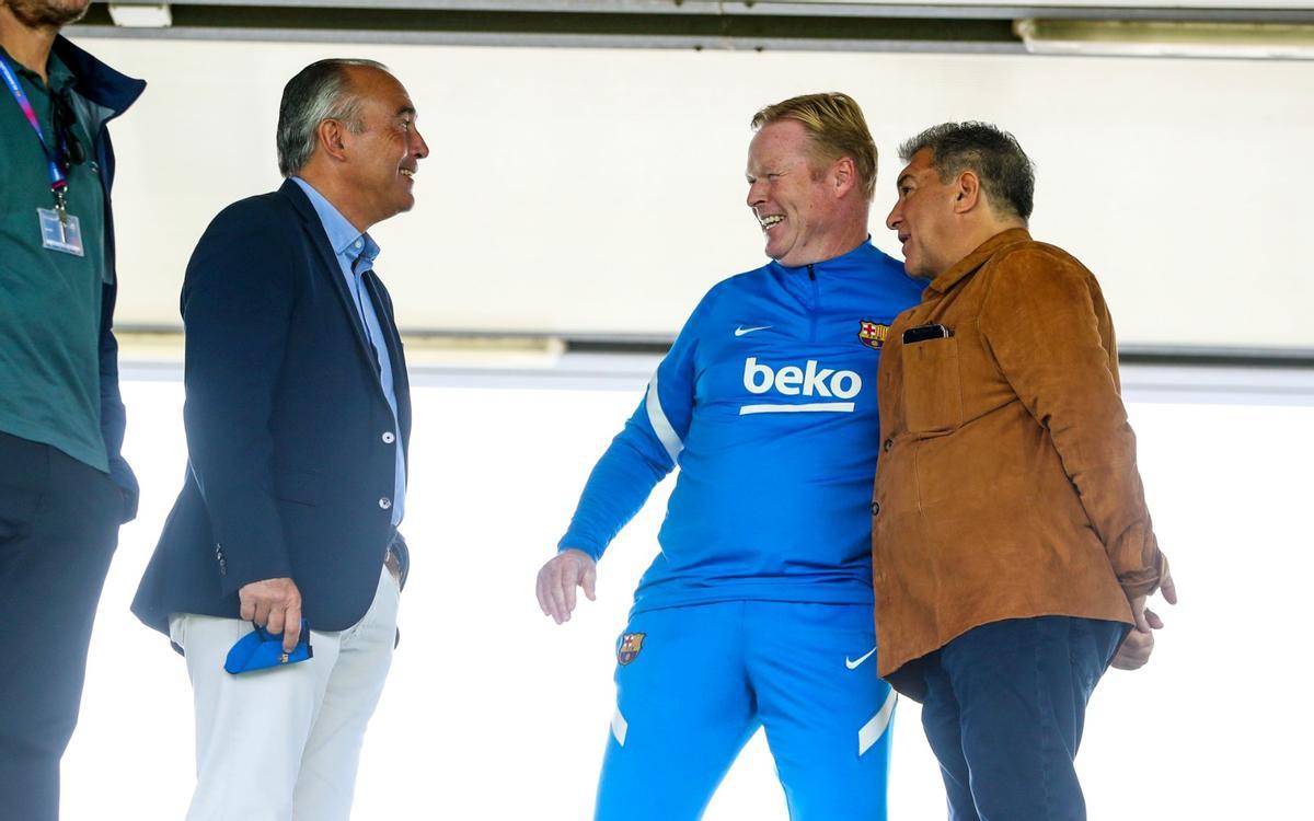
<svg viewBox="0 0 1314 821">
<path fill-rule="evenodd" d="M 1085 818 L 1072 761 L 1087 701 L 1126 629 L 1095 619 L 1010 619 L 924 659 L 921 721 L 951 821 Z"/>
</svg>

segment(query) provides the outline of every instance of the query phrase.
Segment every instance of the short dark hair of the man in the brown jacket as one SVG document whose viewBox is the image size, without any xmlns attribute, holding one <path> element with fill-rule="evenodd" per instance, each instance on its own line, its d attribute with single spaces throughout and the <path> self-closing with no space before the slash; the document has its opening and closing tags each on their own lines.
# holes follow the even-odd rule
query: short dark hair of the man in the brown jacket
<svg viewBox="0 0 1314 821">
<path fill-rule="evenodd" d="M 1022 222 L 1031 217 L 1035 166 L 1008 131 L 988 122 L 942 122 L 899 146 L 899 156 L 908 163 L 922 148 L 930 150 L 941 183 L 974 171 L 992 206 L 1012 211 Z"/>
</svg>

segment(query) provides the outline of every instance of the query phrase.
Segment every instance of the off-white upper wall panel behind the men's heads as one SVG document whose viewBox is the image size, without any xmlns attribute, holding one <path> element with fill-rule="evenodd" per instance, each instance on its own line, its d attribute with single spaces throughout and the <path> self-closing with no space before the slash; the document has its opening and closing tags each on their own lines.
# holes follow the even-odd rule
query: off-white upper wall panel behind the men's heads
<svg viewBox="0 0 1314 821">
<path fill-rule="evenodd" d="M 882 152 L 882 247 L 899 141 L 988 120 L 1037 162 L 1033 234 L 1096 272 L 1125 345 L 1314 349 L 1311 62 L 83 45 L 150 83 L 114 123 L 121 326 L 179 324 L 206 222 L 279 184 L 284 81 L 352 55 L 393 67 L 432 148 L 414 211 L 373 231 L 410 331 L 671 335 L 712 282 L 763 260 L 742 202 L 752 113 L 838 89 Z"/>
</svg>

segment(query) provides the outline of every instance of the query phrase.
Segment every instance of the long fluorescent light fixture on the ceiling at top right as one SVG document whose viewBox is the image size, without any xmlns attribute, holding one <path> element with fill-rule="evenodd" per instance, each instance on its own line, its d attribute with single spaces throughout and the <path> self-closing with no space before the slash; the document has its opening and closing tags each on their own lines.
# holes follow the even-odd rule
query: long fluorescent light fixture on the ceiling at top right
<svg viewBox="0 0 1314 821">
<path fill-rule="evenodd" d="M 1031 54 L 1314 59 L 1314 25 L 1155 20 L 1018 20 Z"/>
</svg>

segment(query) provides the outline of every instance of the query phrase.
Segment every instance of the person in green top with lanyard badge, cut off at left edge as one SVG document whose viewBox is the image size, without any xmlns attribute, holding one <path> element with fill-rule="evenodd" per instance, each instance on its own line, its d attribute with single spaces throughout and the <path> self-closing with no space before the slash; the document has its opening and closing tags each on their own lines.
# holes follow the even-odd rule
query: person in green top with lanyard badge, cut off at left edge
<svg viewBox="0 0 1314 821">
<path fill-rule="evenodd" d="M 59 35 L 87 0 L 0 0 L 0 795 L 54 821 L 118 525 L 120 453 L 105 123 L 145 83 Z"/>
</svg>

